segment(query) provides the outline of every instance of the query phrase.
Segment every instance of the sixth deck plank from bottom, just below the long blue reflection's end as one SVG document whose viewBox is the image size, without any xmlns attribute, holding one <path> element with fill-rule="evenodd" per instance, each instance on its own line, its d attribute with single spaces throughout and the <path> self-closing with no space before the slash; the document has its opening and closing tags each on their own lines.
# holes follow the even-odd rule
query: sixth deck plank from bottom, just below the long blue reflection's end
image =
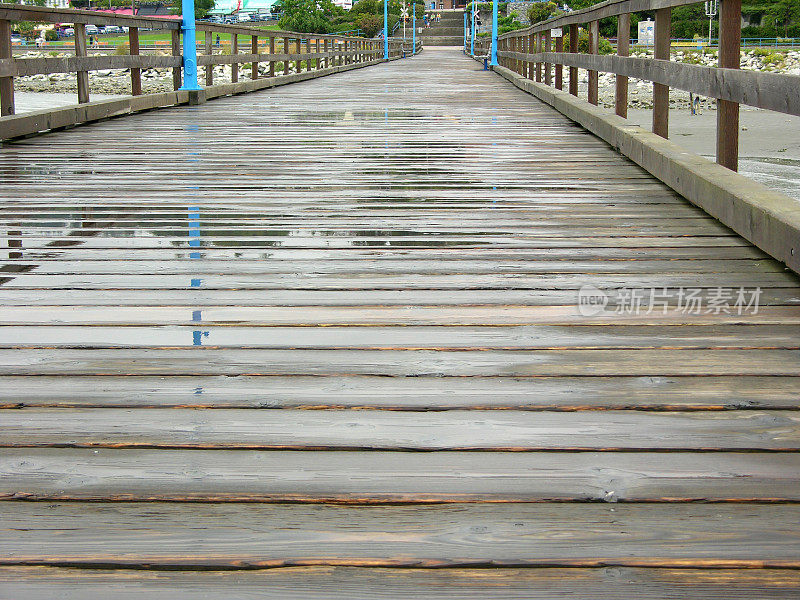
<svg viewBox="0 0 800 600">
<path fill-rule="evenodd" d="M 202 357 L 199 354 L 202 352 Z M 796 350 L 0 350 L 0 375 L 800 376 Z"/>
</svg>

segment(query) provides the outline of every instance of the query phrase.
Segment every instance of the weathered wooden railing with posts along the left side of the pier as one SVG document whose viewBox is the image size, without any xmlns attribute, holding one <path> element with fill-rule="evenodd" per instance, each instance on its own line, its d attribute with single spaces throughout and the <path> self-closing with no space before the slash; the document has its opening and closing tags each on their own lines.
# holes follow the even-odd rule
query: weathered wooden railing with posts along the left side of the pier
<svg viewBox="0 0 800 600">
<path fill-rule="evenodd" d="M 11 21 L 45 23 L 74 23 L 75 56 L 68 58 L 13 58 L 11 52 Z M 129 28 L 129 54 L 88 56 L 86 25 L 118 25 Z M 239 65 L 250 63 L 250 77 L 261 77 L 259 63 L 268 63 L 268 77 L 280 77 L 303 71 L 329 69 L 342 65 L 365 65 L 383 59 L 383 41 L 340 35 L 295 33 L 197 22 L 198 31 L 205 32 L 205 40 L 198 53 L 198 65 L 206 66 L 206 86 L 214 85 L 213 66 L 231 65 L 231 82 L 239 80 Z M 171 55 L 140 54 L 140 29 L 167 30 L 171 32 Z M 230 38 L 230 54 L 214 54 L 214 37 Z M 92 10 L 50 9 L 36 6 L 0 4 L 0 117 L 13 115 L 14 78 L 52 73 L 75 73 L 78 103 L 89 102 L 89 72 L 101 69 L 130 69 L 131 95 L 142 94 L 142 69 L 172 68 L 173 87 L 182 83 L 181 23 L 175 19 L 133 17 Z M 240 42 L 246 40 L 244 46 Z M 414 51 L 419 51 L 420 45 Z M 411 54 L 410 42 L 404 47 L 402 40 L 389 40 L 389 58 Z M 203 83 L 202 81 L 200 82 Z M 0 138 L 4 137 L 0 135 Z"/>
</svg>

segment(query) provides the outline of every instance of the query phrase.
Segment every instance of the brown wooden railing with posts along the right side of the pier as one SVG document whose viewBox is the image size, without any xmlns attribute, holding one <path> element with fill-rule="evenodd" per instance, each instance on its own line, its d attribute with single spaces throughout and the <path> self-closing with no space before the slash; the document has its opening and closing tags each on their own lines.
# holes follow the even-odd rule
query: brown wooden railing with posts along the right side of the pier
<svg viewBox="0 0 800 600">
<path fill-rule="evenodd" d="M 628 78 L 653 84 L 654 133 L 669 137 L 669 90 L 676 88 L 717 100 L 717 162 L 737 170 L 739 105 L 745 104 L 800 115 L 800 77 L 739 70 L 741 0 L 720 2 L 718 67 L 670 62 L 671 8 L 697 0 L 608 0 L 587 9 L 536 23 L 499 36 L 498 63 L 516 73 L 563 89 L 563 69 L 569 68 L 569 93 L 578 95 L 578 69 L 589 72 L 588 101 L 598 103 L 598 73 L 616 75 L 616 114 L 627 118 Z M 630 14 L 655 10 L 654 58 L 633 58 Z M 599 54 L 599 20 L 616 16 L 617 54 Z M 578 53 L 578 27 L 589 31 L 589 53 Z M 563 47 L 569 33 L 569 48 Z M 556 35 L 554 35 L 556 34 Z M 476 39 L 476 53 L 488 53 L 489 38 Z M 565 51 L 566 50 L 566 51 Z"/>
</svg>

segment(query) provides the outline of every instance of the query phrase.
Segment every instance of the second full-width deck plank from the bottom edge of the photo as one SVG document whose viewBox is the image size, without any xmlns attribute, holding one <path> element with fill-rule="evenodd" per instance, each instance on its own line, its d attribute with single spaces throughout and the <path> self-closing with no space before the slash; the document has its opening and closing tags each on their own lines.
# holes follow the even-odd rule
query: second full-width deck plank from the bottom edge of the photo
<svg viewBox="0 0 800 600">
<path fill-rule="evenodd" d="M 796 506 L 4 505 L 0 562 L 154 566 L 795 567 Z M 61 525 L 58 529 L 57 524 Z M 225 540 L 224 544 L 220 540 Z M 376 542 L 376 540 L 378 540 Z"/>
</svg>

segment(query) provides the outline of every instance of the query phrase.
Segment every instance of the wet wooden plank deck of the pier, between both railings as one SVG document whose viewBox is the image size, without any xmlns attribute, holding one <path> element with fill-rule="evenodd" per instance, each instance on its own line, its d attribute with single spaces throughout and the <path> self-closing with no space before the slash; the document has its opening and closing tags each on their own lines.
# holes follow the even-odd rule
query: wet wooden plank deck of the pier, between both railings
<svg viewBox="0 0 800 600">
<path fill-rule="evenodd" d="M 0 597 L 800 593 L 798 278 L 477 63 L 0 172 Z"/>
</svg>

